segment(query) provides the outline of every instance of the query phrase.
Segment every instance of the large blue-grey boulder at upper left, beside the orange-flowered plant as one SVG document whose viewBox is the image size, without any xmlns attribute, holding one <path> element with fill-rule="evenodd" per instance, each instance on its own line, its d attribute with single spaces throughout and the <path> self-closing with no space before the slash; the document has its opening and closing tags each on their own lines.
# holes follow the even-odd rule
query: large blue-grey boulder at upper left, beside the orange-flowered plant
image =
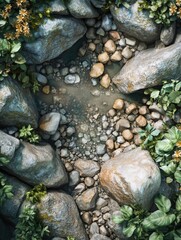
<svg viewBox="0 0 181 240">
<path fill-rule="evenodd" d="M 72 47 L 86 32 L 81 20 L 71 17 L 45 19 L 34 34 L 35 40 L 24 44 L 28 63 L 39 64 L 58 57 Z"/>
</svg>

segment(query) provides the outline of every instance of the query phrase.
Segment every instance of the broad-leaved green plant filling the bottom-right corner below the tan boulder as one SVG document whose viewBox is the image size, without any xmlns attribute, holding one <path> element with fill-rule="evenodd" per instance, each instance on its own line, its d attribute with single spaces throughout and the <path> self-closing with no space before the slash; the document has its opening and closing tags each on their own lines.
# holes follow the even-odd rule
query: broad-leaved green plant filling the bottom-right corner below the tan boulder
<svg viewBox="0 0 181 240">
<path fill-rule="evenodd" d="M 181 195 L 171 202 L 163 195 L 154 200 L 156 210 L 143 211 L 124 205 L 113 221 L 120 224 L 123 234 L 135 240 L 178 240 L 181 236 Z"/>
</svg>

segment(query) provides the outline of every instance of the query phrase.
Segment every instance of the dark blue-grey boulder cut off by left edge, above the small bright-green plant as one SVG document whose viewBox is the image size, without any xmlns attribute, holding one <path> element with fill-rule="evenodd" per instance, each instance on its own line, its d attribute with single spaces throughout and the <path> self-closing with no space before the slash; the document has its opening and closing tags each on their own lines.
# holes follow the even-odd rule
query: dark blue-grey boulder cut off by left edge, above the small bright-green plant
<svg viewBox="0 0 181 240">
<path fill-rule="evenodd" d="M 38 111 L 29 89 L 22 88 L 14 79 L 0 82 L 0 125 L 38 126 Z"/>
</svg>

